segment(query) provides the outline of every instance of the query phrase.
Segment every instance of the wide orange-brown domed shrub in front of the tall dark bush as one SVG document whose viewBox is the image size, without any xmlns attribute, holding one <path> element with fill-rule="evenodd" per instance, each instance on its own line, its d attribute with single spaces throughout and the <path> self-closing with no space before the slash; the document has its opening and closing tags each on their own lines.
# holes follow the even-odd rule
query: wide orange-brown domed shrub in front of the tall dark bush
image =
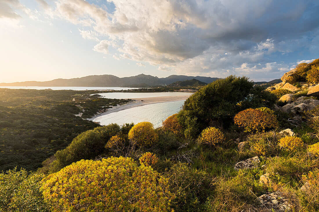
<svg viewBox="0 0 319 212">
<path fill-rule="evenodd" d="M 278 126 L 277 118 L 269 111 L 261 109 L 246 109 L 237 113 L 234 122 L 240 127 L 244 127 L 246 132 L 266 131 Z"/>
</svg>

